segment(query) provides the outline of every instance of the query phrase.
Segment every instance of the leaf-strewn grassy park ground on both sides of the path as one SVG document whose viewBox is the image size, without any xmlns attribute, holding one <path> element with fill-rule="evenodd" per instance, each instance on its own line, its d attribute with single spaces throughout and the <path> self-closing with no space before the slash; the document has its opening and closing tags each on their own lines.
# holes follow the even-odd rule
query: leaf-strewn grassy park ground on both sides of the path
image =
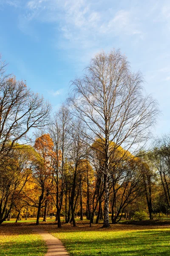
<svg viewBox="0 0 170 256">
<path fill-rule="evenodd" d="M 102 228 L 102 224 L 77 221 L 77 227 L 55 221 L 36 227 L 59 238 L 71 256 L 170 256 L 170 219 L 120 224 Z M 148 225 L 149 224 L 149 225 Z M 0 256 L 44 256 L 45 242 L 35 231 L 34 220 L 6 221 L 0 226 Z"/>
</svg>

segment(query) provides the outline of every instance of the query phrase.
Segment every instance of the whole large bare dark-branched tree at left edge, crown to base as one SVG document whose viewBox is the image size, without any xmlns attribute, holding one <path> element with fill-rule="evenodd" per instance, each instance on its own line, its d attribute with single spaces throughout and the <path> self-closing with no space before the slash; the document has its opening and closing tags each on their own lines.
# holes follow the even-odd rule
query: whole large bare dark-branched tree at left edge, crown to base
<svg viewBox="0 0 170 256">
<path fill-rule="evenodd" d="M 39 94 L 32 92 L 24 81 L 17 81 L 15 76 L 6 74 L 6 64 L 0 58 L 0 219 L 8 217 L 13 205 L 13 196 L 8 189 L 4 198 L 5 183 L 11 187 L 15 176 L 10 173 L 4 177 L 4 166 L 11 163 L 10 158 L 16 158 L 18 151 L 14 150 L 17 143 L 27 142 L 28 132 L 32 128 L 40 128 L 49 122 L 51 105 L 44 102 Z M 26 140 L 26 141 L 25 141 Z M 21 148 L 20 148 L 21 150 Z M 24 146 L 23 146 L 24 150 Z M 16 153 L 16 155 L 14 155 Z M 6 187 L 7 188 L 7 187 Z M 6 201 L 10 199 L 10 207 L 6 212 Z M 4 201 L 5 200 L 5 201 Z M 3 207 L 3 209 L 1 208 Z M 5 208 L 4 208 L 5 207 Z M 4 212 L 5 209 L 5 212 Z"/>
</svg>

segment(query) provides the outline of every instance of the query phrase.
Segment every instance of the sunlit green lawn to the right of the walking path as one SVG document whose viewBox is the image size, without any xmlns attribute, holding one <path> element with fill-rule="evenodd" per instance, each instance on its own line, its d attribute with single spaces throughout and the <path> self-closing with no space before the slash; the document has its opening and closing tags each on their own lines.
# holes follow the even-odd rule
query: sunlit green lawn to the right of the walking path
<svg viewBox="0 0 170 256">
<path fill-rule="evenodd" d="M 131 229 L 131 227 L 130 227 Z M 81 256 L 170 256 L 170 229 L 51 232 L 73 255 Z"/>
</svg>

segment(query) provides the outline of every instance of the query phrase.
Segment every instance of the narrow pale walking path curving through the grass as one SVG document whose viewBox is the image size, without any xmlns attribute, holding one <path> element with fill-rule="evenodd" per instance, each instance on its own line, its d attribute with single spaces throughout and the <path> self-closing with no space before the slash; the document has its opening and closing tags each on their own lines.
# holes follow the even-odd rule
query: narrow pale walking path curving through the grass
<svg viewBox="0 0 170 256">
<path fill-rule="evenodd" d="M 48 251 L 45 254 L 45 256 L 68 256 L 68 252 L 65 250 L 65 247 L 63 246 L 62 242 L 46 232 L 45 230 L 42 229 L 34 229 L 37 233 L 39 233 L 42 238 L 45 240 L 47 246 L 48 246 Z"/>
</svg>

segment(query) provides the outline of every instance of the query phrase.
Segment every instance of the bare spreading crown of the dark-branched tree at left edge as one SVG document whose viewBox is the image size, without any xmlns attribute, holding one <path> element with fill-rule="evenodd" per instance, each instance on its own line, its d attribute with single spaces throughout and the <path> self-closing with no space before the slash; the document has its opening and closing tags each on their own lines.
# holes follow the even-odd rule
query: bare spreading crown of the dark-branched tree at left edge
<svg viewBox="0 0 170 256">
<path fill-rule="evenodd" d="M 51 105 L 32 92 L 24 81 L 6 75 L 5 64 L 0 66 L 0 164 L 14 144 L 26 138 L 31 128 L 49 122 Z"/>
</svg>

